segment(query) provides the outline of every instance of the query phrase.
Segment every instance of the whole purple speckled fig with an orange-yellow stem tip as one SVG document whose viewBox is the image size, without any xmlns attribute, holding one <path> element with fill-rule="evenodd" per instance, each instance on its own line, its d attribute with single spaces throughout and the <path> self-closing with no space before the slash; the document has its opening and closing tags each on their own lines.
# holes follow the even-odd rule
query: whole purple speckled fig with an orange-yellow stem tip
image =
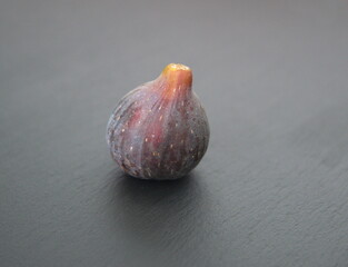
<svg viewBox="0 0 348 267">
<path fill-rule="evenodd" d="M 107 141 L 125 172 L 168 180 L 199 164 L 208 148 L 209 125 L 191 87 L 191 70 L 171 63 L 121 99 L 109 119 Z"/>
</svg>

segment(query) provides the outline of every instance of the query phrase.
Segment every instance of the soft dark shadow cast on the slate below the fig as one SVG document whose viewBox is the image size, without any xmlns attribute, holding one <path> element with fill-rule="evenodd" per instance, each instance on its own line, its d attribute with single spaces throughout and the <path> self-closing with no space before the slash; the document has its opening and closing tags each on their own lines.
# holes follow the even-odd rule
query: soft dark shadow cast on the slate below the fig
<svg viewBox="0 0 348 267">
<path fill-rule="evenodd" d="M 160 244 L 175 237 L 185 239 L 188 229 L 199 228 L 203 207 L 198 171 L 177 180 L 142 180 L 120 175 L 115 181 L 112 217 L 116 228 L 130 243 L 160 249 Z"/>
</svg>

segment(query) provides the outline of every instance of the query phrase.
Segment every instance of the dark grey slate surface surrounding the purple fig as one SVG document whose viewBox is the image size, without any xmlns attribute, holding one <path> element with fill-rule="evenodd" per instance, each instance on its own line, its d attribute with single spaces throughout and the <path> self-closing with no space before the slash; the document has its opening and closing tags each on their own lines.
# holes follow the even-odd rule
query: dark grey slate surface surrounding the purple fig
<svg viewBox="0 0 348 267">
<path fill-rule="evenodd" d="M 125 177 L 108 118 L 169 62 L 208 152 Z M 1 1 L 0 265 L 348 266 L 348 2 Z"/>
</svg>

